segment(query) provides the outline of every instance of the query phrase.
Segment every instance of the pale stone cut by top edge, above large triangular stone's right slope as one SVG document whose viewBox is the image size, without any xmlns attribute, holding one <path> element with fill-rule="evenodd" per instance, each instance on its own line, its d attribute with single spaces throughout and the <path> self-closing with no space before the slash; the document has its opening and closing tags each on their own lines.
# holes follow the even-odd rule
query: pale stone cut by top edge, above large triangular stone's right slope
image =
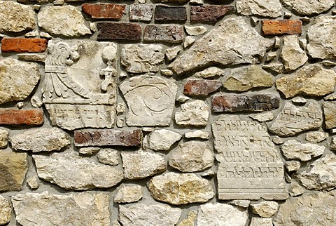
<svg viewBox="0 0 336 226">
<path fill-rule="evenodd" d="M 236 2 L 236 8 L 242 15 L 260 15 L 268 18 L 282 15 L 282 5 L 279 0 L 240 0 Z"/>
</svg>

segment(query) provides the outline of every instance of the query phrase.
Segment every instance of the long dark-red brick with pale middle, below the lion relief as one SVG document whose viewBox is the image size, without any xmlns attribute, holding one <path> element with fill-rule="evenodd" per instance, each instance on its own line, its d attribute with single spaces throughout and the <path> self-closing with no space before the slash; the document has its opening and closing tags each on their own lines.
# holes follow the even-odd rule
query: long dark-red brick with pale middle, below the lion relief
<svg viewBox="0 0 336 226">
<path fill-rule="evenodd" d="M 75 131 L 75 145 L 87 146 L 127 146 L 140 147 L 142 131 L 121 131 L 115 129 L 101 129 L 90 131 Z"/>
</svg>

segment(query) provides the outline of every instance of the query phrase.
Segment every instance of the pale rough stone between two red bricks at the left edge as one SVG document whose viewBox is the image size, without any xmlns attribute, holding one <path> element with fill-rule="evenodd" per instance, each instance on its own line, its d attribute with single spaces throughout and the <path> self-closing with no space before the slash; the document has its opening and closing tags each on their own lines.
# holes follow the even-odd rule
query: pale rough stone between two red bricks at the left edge
<svg viewBox="0 0 336 226">
<path fill-rule="evenodd" d="M 11 58 L 0 60 L 0 104 L 25 100 L 34 90 L 40 77 L 41 73 L 35 63 Z"/>
</svg>

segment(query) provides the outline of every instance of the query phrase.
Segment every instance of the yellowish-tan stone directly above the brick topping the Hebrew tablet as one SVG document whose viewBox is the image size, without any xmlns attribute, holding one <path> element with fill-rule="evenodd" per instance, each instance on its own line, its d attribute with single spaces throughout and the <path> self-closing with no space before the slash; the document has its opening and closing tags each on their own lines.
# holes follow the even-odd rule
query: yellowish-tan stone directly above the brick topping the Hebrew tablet
<svg viewBox="0 0 336 226">
<path fill-rule="evenodd" d="M 223 86 L 228 91 L 248 91 L 251 88 L 272 87 L 274 78 L 259 65 L 237 67 L 230 69 L 228 79 Z"/>
</svg>

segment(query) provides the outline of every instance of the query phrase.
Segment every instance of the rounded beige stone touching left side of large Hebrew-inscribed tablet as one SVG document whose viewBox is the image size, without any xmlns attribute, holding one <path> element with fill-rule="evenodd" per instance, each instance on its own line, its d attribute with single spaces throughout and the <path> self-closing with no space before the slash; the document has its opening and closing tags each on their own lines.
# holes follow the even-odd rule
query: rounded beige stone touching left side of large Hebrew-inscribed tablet
<svg viewBox="0 0 336 226">
<path fill-rule="evenodd" d="M 183 142 L 169 157 L 169 166 L 182 172 L 204 171 L 213 164 L 214 152 L 202 141 Z"/>
</svg>

